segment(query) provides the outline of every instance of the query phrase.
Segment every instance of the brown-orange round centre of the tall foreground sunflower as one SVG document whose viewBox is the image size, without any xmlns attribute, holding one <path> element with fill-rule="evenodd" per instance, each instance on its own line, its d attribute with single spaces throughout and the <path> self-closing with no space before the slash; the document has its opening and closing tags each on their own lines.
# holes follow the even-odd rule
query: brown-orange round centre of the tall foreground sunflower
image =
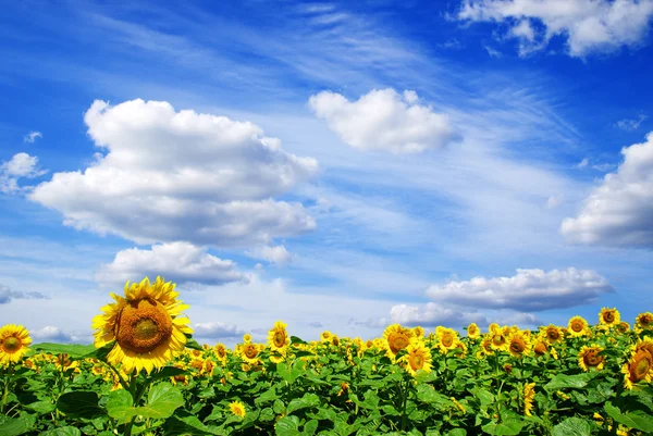
<svg viewBox="0 0 653 436">
<path fill-rule="evenodd" d="M 136 300 L 121 311 L 116 329 L 115 336 L 121 347 L 143 354 L 172 336 L 172 317 L 157 302 Z"/>
</svg>

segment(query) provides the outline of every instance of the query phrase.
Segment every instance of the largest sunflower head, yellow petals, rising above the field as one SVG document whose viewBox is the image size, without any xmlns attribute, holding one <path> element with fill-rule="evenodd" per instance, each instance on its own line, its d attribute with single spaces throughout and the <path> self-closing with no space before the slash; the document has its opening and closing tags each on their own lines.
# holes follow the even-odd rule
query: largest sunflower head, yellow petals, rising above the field
<svg viewBox="0 0 653 436">
<path fill-rule="evenodd" d="M 181 312 L 188 308 L 177 300 L 175 284 L 157 277 L 155 283 L 144 278 L 139 284 L 125 285 L 125 297 L 111 294 L 114 303 L 104 306 L 103 314 L 93 319 L 95 346 L 115 341 L 107 359 L 122 363 L 125 373 L 164 366 L 184 351 L 189 320 Z"/>
</svg>

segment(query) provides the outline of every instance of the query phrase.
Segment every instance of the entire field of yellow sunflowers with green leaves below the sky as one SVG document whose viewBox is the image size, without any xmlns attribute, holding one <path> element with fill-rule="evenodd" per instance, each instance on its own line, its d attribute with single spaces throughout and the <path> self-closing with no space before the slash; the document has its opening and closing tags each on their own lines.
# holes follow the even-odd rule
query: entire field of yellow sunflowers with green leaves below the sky
<svg viewBox="0 0 653 436">
<path fill-rule="evenodd" d="M 653 314 L 633 324 L 466 333 L 390 325 L 375 339 L 193 339 L 157 277 L 93 320 L 95 346 L 0 328 L 0 435 L 651 435 Z"/>
</svg>

